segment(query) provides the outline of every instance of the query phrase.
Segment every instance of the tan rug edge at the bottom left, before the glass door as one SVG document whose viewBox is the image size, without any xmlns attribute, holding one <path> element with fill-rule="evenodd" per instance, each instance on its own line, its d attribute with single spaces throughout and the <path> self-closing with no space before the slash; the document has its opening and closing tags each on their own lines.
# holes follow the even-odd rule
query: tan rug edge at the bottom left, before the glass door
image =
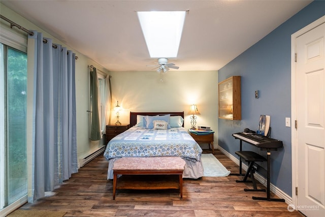
<svg viewBox="0 0 325 217">
<path fill-rule="evenodd" d="M 62 217 L 67 212 L 65 211 L 49 211 L 49 210 L 24 210 L 17 209 L 10 213 L 9 217 Z"/>
</svg>

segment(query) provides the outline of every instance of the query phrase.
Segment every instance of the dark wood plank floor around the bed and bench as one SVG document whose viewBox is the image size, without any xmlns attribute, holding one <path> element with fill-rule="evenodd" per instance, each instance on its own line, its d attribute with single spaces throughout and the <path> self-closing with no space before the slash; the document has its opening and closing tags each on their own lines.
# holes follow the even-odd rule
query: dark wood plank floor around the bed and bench
<svg viewBox="0 0 325 217">
<path fill-rule="evenodd" d="M 230 171 L 238 171 L 219 150 L 215 156 Z M 266 193 L 244 192 L 244 188 L 252 188 L 251 183 L 237 183 L 238 176 L 184 179 L 183 200 L 177 190 L 118 190 L 113 200 L 107 166 L 101 154 L 57 188 L 55 195 L 20 209 L 64 210 L 65 216 L 304 216 L 289 212 L 283 202 L 252 200 L 252 196 L 266 197 Z M 257 187 L 265 188 L 259 183 Z"/>
</svg>

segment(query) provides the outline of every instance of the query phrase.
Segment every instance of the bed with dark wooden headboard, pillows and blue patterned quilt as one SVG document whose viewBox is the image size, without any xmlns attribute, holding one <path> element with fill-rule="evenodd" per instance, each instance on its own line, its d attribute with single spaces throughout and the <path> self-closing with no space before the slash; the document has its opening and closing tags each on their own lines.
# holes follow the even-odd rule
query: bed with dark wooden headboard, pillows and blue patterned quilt
<svg viewBox="0 0 325 217">
<path fill-rule="evenodd" d="M 164 156 L 184 159 L 183 178 L 202 177 L 202 149 L 184 129 L 183 120 L 184 112 L 130 112 L 130 128 L 106 146 L 107 179 L 113 179 L 112 168 L 119 158 Z"/>
</svg>

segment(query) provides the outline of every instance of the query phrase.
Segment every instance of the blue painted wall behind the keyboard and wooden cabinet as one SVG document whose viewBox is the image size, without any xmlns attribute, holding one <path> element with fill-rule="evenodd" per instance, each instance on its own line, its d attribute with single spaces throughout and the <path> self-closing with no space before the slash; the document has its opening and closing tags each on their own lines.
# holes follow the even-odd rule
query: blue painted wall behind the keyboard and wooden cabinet
<svg viewBox="0 0 325 217">
<path fill-rule="evenodd" d="M 256 130 L 259 116 L 270 115 L 271 137 L 282 140 L 284 145 L 271 152 L 271 183 L 289 196 L 292 196 L 291 128 L 285 127 L 285 117 L 291 117 L 291 35 L 323 15 L 325 1 L 312 2 L 218 73 L 219 82 L 234 75 L 242 76 L 242 120 L 219 118 L 219 146 L 238 158 L 235 151 L 239 150 L 239 140 L 232 134 L 242 132 L 244 128 Z M 255 90 L 259 90 L 258 99 L 255 99 Z M 266 151 L 247 143 L 243 143 L 243 149 L 266 156 Z M 266 169 L 267 164 L 261 166 L 264 174 L 263 168 Z"/>
</svg>

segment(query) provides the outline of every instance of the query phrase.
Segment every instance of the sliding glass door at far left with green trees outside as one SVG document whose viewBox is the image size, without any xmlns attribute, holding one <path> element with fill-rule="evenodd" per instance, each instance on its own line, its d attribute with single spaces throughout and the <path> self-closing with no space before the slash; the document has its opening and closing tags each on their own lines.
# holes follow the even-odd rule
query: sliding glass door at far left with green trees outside
<svg viewBox="0 0 325 217">
<path fill-rule="evenodd" d="M 27 55 L 0 44 L 0 210 L 27 195 Z"/>
</svg>

